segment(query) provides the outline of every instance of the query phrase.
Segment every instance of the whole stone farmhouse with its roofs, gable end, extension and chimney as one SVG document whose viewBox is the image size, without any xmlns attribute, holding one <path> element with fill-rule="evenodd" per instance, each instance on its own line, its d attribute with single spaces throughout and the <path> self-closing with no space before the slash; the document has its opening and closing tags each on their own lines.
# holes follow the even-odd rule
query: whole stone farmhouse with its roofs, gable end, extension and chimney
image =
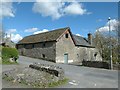
<svg viewBox="0 0 120 90">
<path fill-rule="evenodd" d="M 102 60 L 98 50 L 92 46 L 92 35 L 89 33 L 87 40 L 73 35 L 69 27 L 27 36 L 16 47 L 20 55 L 56 63 Z"/>
</svg>

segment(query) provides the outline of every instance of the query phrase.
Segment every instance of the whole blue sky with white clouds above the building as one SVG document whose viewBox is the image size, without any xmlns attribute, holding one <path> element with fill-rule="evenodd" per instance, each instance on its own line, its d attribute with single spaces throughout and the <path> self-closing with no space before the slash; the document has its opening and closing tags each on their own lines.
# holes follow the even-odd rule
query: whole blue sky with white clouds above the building
<svg viewBox="0 0 120 90">
<path fill-rule="evenodd" d="M 41 2 L 39 2 L 41 1 Z M 87 37 L 96 30 L 108 31 L 117 25 L 117 2 L 2 2 L 3 30 L 14 42 L 28 35 L 70 27 L 73 34 Z"/>
</svg>

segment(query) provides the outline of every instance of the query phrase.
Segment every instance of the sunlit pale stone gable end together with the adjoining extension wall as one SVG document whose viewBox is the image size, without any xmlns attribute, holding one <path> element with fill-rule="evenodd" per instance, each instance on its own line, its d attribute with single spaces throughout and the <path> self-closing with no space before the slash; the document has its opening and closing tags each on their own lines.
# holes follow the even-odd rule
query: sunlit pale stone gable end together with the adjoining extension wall
<svg viewBox="0 0 120 90">
<path fill-rule="evenodd" d="M 65 34 L 68 33 L 68 38 Z M 64 33 L 56 43 L 56 62 L 65 63 L 64 54 L 68 53 L 68 63 L 79 63 L 82 61 L 102 61 L 96 48 L 75 46 L 69 32 Z"/>
</svg>

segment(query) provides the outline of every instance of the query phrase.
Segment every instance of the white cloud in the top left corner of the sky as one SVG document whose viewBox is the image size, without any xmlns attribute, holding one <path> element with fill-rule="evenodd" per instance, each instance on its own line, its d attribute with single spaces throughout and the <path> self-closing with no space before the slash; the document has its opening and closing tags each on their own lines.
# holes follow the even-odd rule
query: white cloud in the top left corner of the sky
<svg viewBox="0 0 120 90">
<path fill-rule="evenodd" d="M 4 0 L 0 2 L 0 18 L 15 17 L 12 0 Z"/>
</svg>

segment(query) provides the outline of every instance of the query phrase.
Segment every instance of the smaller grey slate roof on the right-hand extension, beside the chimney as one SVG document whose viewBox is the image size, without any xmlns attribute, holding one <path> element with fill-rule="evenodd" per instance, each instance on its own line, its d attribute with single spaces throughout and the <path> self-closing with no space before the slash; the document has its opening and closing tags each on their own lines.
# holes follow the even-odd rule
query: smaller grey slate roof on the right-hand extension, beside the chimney
<svg viewBox="0 0 120 90">
<path fill-rule="evenodd" d="M 88 43 L 88 40 L 86 38 L 77 36 L 77 35 L 72 35 L 72 36 L 73 36 L 76 46 L 93 47 Z"/>
</svg>

